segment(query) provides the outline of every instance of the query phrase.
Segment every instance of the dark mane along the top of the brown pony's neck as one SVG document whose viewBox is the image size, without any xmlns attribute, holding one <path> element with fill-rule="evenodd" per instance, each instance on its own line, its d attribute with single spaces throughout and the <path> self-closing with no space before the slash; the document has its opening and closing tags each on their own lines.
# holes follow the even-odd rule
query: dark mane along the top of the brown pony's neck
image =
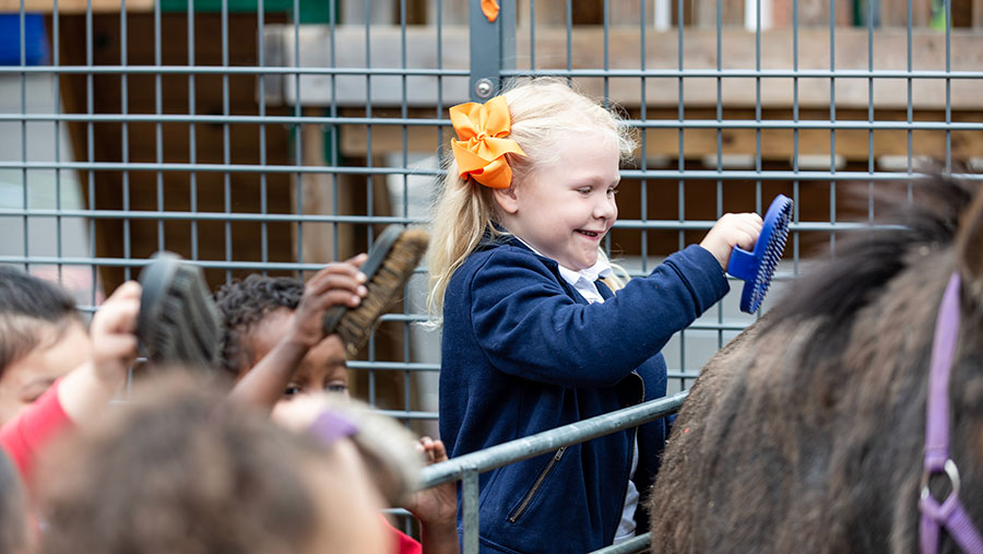
<svg viewBox="0 0 983 554">
<path fill-rule="evenodd" d="M 875 192 L 876 205 L 884 207 L 875 225 L 850 232 L 837 243 L 834 259 L 793 283 L 767 328 L 815 318 L 824 321 L 816 331 L 824 334 L 852 320 L 907 269 L 909 252 L 952 246 L 959 219 L 978 190 L 968 181 L 934 175 L 912 182 L 911 199 L 901 190 Z"/>
</svg>

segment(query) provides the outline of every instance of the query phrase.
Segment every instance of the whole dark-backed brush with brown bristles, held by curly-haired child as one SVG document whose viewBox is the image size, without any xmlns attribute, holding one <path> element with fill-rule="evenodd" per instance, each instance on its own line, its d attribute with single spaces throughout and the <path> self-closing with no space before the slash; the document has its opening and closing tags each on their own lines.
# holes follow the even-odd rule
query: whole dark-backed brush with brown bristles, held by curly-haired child
<svg viewBox="0 0 983 554">
<path fill-rule="evenodd" d="M 379 235 L 362 264 L 368 294 L 356 308 L 334 306 L 324 314 L 324 334 L 337 333 L 348 356 L 368 342 L 381 316 L 403 295 L 403 287 L 419 263 L 430 236 L 426 231 L 390 225 Z"/>
</svg>

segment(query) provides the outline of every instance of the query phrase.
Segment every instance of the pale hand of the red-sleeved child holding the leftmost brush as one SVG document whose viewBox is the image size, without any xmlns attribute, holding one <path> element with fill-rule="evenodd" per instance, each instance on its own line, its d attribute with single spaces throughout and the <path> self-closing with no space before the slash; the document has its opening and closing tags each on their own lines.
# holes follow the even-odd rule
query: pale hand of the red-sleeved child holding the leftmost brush
<svg viewBox="0 0 983 554">
<path fill-rule="evenodd" d="M 92 363 L 95 375 L 118 384 L 137 359 L 137 316 L 140 314 L 140 284 L 127 281 L 106 298 L 92 318 Z"/>
</svg>

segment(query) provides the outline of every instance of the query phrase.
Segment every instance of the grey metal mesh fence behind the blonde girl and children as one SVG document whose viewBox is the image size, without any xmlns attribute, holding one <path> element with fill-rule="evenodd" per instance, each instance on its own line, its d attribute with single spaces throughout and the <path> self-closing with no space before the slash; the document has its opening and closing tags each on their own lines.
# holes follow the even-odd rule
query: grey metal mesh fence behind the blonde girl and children
<svg viewBox="0 0 983 554">
<path fill-rule="evenodd" d="M 924 21 L 911 0 L 501 4 L 496 24 L 441 0 L 10 4 L 0 262 L 61 280 L 84 310 L 158 249 L 205 268 L 213 287 L 309 275 L 383 224 L 426 221 L 446 109 L 477 99 L 482 79 L 494 93 L 505 79 L 567 78 L 639 129 L 606 243 L 635 274 L 725 211 L 761 212 L 784 192 L 796 201 L 787 280 L 834 255 L 838 234 L 876 215 L 874 193 L 923 156 L 950 173 L 983 156 L 983 14 L 954 28 L 949 2 Z M 32 10 L 47 12 L 37 60 Z M 857 187 L 860 208 L 843 195 Z M 356 396 L 434 433 L 439 339 L 414 325 L 424 294 L 421 271 L 350 365 Z M 735 296 L 665 349 L 679 388 L 753 320 Z"/>
</svg>

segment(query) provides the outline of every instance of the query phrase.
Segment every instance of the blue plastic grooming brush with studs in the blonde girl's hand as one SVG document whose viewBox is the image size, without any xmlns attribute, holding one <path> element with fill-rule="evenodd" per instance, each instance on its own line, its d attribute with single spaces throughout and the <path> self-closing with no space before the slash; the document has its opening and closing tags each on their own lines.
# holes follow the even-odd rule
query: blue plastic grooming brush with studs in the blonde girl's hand
<svg viewBox="0 0 983 554">
<path fill-rule="evenodd" d="M 765 225 L 755 243 L 755 250 L 749 252 L 735 246 L 731 252 L 727 273 L 744 281 L 741 311 L 754 314 L 765 299 L 774 268 L 785 250 L 791 221 L 792 199 L 784 195 L 777 196 L 765 214 Z"/>
</svg>

